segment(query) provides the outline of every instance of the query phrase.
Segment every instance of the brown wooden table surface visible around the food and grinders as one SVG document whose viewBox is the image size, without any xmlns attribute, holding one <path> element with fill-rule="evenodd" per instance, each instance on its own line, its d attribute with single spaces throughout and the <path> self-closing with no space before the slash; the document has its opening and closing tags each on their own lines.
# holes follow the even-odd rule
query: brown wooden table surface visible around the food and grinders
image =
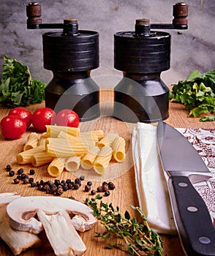
<svg viewBox="0 0 215 256">
<path fill-rule="evenodd" d="M 130 205 L 138 206 L 137 200 L 137 192 L 135 189 L 135 172 L 132 163 L 132 155 L 131 155 L 131 135 L 132 129 L 136 124 L 123 123 L 121 121 L 116 120 L 111 117 L 111 111 L 113 108 L 113 91 L 111 89 L 103 89 L 101 91 L 100 96 L 100 106 L 101 106 L 101 116 L 93 121 L 88 121 L 84 123 L 80 123 L 80 130 L 87 131 L 91 129 L 103 129 L 105 133 L 109 131 L 116 131 L 119 135 L 124 137 L 127 142 L 127 162 L 125 165 L 113 165 L 113 168 L 116 170 L 120 170 L 121 168 L 126 168 L 119 175 L 116 174 L 116 177 L 113 177 L 112 181 L 116 185 L 116 189 L 114 189 L 109 197 L 103 197 L 105 202 L 112 202 L 113 206 L 119 206 L 120 211 L 124 213 L 128 210 L 130 213 L 132 212 Z M 45 106 L 45 102 L 37 105 L 30 105 L 27 107 L 31 112 L 33 112 L 37 108 L 41 108 Z M 0 118 L 7 116 L 10 109 L 8 108 L 0 108 Z M 170 117 L 165 120 L 168 124 L 173 125 L 173 127 L 184 127 L 184 128 L 212 128 L 214 127 L 214 122 L 200 122 L 199 118 L 187 118 L 188 112 L 184 109 L 183 105 L 178 103 L 170 102 Z M 23 184 L 14 184 L 13 178 L 8 176 L 7 171 L 5 170 L 6 165 L 10 164 L 13 170 L 18 170 L 20 165 L 18 165 L 15 161 L 15 156 L 23 149 L 24 143 L 26 143 L 26 138 L 30 132 L 34 131 L 32 127 L 23 135 L 22 138 L 18 140 L 4 140 L 4 138 L 0 137 L 0 192 L 18 192 L 19 195 L 29 196 L 29 195 L 46 195 L 44 192 L 40 192 L 37 188 L 31 188 L 29 185 Z M 36 173 L 34 175 L 34 180 L 40 181 L 41 179 L 48 181 L 53 180 L 48 176 L 47 166 L 43 165 L 42 167 L 34 168 Z M 25 172 L 28 173 L 31 165 L 22 165 Z M 121 176 L 120 176 L 121 175 Z M 67 171 L 64 171 L 59 179 L 75 179 L 75 174 L 71 174 Z M 91 197 L 87 192 L 83 192 L 83 187 L 85 186 L 88 178 L 86 176 L 86 180 L 83 181 L 82 189 L 78 190 L 68 190 L 64 192 L 62 196 L 69 197 L 73 196 L 80 201 L 83 201 L 86 197 Z M 102 183 L 102 178 L 92 178 L 93 187 L 97 188 Z M 97 223 L 91 230 L 80 233 L 80 236 L 83 238 L 84 243 L 86 244 L 86 252 L 84 255 L 87 256 L 118 256 L 125 255 L 123 252 L 118 251 L 116 249 L 107 250 L 105 249 L 105 244 L 103 241 L 100 241 L 98 238 L 94 238 L 95 231 L 102 231 L 102 226 Z M 28 249 L 26 252 L 23 252 L 22 255 L 25 256 L 34 256 L 34 255 L 54 255 L 53 249 L 48 243 L 47 238 L 45 237 L 45 233 L 40 234 L 42 237 L 43 245 L 37 249 Z M 169 256 L 180 255 L 183 256 L 184 252 L 181 248 L 181 244 L 178 236 L 167 236 L 162 235 L 164 241 L 164 255 L 165 253 Z M 60 241 L 59 241 L 60 243 Z M 0 239 L 0 255 L 8 256 L 12 255 L 10 249 L 4 244 L 4 241 Z"/>
</svg>

